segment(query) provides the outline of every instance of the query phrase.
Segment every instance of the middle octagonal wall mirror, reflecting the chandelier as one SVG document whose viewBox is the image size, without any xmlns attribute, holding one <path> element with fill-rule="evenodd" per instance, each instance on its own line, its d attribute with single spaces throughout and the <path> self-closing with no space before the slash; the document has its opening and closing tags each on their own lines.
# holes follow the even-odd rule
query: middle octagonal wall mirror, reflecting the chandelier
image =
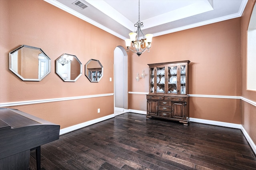
<svg viewBox="0 0 256 170">
<path fill-rule="evenodd" d="M 82 75 L 82 63 L 76 55 L 62 54 L 56 59 L 56 73 L 63 81 L 75 82 Z"/>
</svg>

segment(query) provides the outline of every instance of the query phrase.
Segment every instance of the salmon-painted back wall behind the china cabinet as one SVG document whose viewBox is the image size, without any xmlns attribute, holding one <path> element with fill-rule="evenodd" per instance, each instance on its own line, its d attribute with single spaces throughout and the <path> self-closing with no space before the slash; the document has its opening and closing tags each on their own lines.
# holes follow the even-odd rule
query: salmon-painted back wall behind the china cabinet
<svg viewBox="0 0 256 170">
<path fill-rule="evenodd" d="M 190 60 L 189 94 L 241 96 L 240 21 L 234 18 L 154 37 L 149 53 L 129 54 L 129 91 L 149 91 L 149 76 L 135 79 L 143 69 L 148 75 L 148 63 Z M 146 111 L 146 95 L 131 95 L 130 109 Z M 193 118 L 241 124 L 240 99 L 190 97 L 189 107 Z"/>
</svg>

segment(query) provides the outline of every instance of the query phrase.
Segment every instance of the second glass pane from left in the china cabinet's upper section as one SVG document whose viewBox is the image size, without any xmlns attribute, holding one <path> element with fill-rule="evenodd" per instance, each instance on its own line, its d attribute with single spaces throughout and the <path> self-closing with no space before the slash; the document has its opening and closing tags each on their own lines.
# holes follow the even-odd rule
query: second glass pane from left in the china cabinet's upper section
<svg viewBox="0 0 256 170">
<path fill-rule="evenodd" d="M 156 93 L 165 93 L 165 67 L 156 67 Z"/>
</svg>

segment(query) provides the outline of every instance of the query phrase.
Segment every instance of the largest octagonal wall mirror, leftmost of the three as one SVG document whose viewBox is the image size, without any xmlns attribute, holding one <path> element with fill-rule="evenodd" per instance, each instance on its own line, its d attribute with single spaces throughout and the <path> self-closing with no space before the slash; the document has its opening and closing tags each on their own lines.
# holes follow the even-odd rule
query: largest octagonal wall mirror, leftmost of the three
<svg viewBox="0 0 256 170">
<path fill-rule="evenodd" d="M 9 53 L 9 69 L 23 81 L 41 81 L 51 71 L 51 59 L 38 47 L 21 45 Z"/>
</svg>

